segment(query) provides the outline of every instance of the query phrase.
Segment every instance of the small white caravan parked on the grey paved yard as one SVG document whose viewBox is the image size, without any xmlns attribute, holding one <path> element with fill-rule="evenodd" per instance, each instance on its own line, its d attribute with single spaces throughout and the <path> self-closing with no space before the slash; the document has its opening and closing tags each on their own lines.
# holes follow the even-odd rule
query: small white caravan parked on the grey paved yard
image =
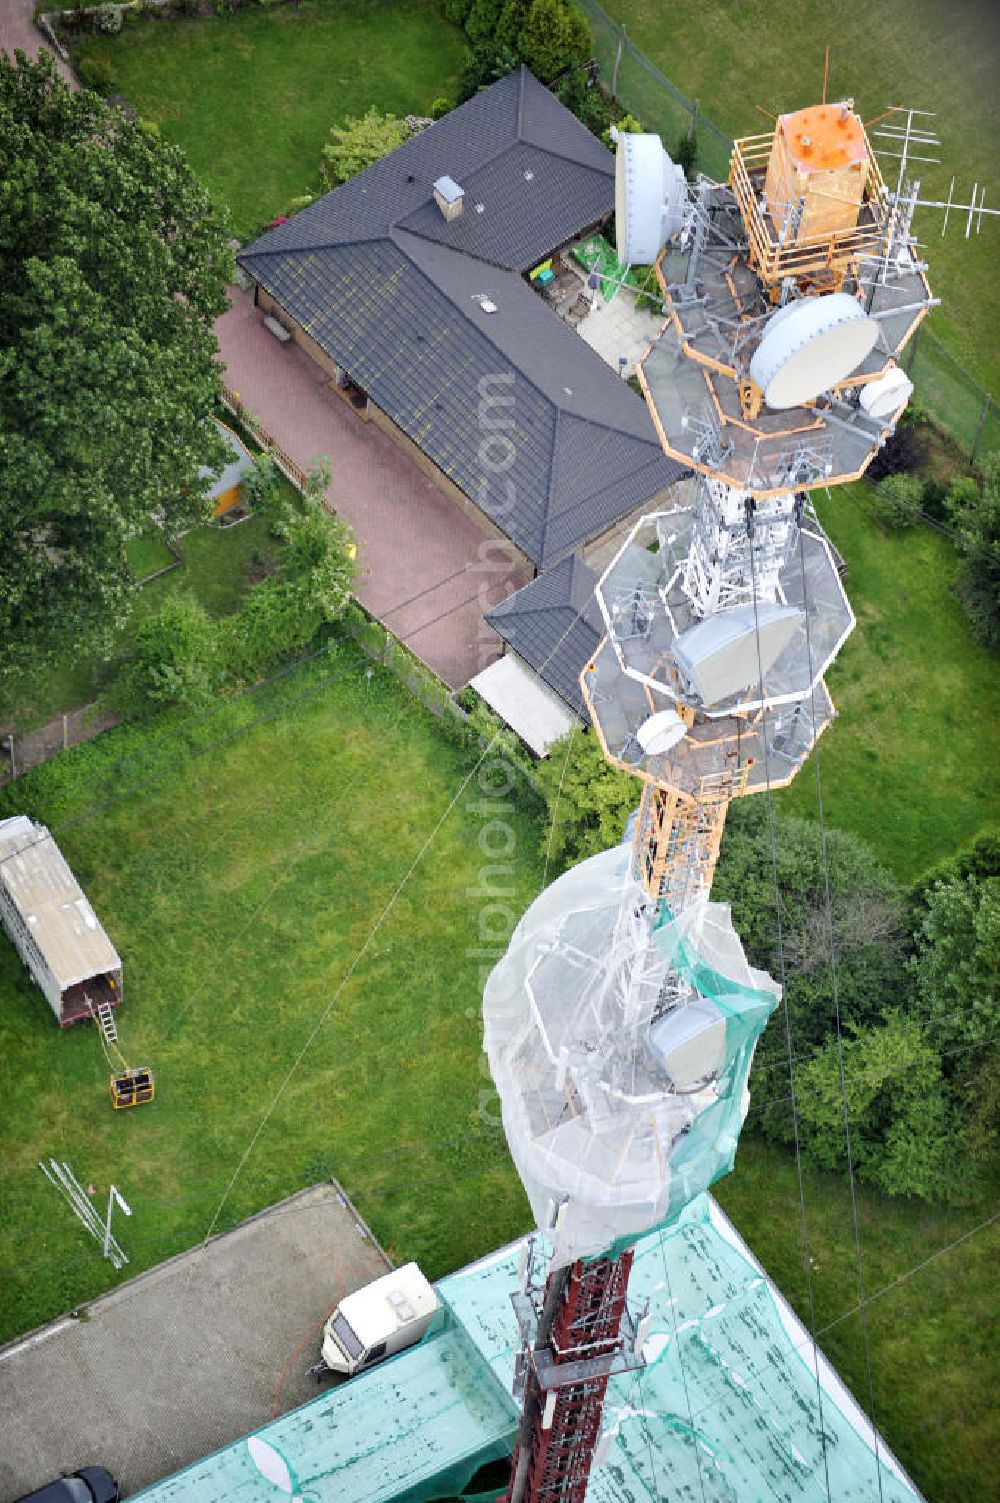
<svg viewBox="0 0 1000 1503">
<path fill-rule="evenodd" d="M 323 1327 L 323 1360 L 311 1371 L 350 1377 L 420 1341 L 438 1296 L 415 1263 L 383 1273 L 340 1302 Z"/>
</svg>

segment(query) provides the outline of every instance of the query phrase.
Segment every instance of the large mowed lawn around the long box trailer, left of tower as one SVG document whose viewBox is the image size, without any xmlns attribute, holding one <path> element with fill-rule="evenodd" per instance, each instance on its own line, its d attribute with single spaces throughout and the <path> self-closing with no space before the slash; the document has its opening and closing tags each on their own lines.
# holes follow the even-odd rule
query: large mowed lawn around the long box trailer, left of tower
<svg viewBox="0 0 1000 1503">
<path fill-rule="evenodd" d="M 150 1109 L 114 1114 L 95 1030 L 60 1034 L 0 944 L 6 1335 L 110 1282 L 36 1168 L 48 1154 L 122 1186 L 129 1272 L 328 1172 L 432 1273 L 525 1225 L 499 1126 L 480 1120 L 475 779 L 448 813 L 475 762 L 365 666 L 344 648 L 298 670 L 236 739 L 253 697 L 224 706 L 200 756 L 168 729 L 153 764 L 0 806 L 51 821 L 125 957 L 123 1051 L 158 1081 Z M 537 836 L 529 812 L 505 819 L 519 912 Z"/>
</svg>

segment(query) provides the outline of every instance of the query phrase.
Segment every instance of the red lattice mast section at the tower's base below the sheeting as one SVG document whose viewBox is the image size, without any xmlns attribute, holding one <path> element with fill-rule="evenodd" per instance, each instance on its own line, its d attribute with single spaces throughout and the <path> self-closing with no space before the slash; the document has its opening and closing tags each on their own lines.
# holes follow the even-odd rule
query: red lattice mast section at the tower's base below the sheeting
<svg viewBox="0 0 1000 1503">
<path fill-rule="evenodd" d="M 626 1308 L 632 1257 L 556 1269 L 540 1309 L 514 1296 L 523 1413 L 507 1503 L 583 1503 L 608 1378 L 641 1362 Z"/>
</svg>

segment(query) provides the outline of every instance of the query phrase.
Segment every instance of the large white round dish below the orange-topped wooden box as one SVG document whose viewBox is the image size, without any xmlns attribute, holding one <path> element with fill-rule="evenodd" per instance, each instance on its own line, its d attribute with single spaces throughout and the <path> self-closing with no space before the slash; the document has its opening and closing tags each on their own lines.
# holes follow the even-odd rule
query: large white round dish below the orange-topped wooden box
<svg viewBox="0 0 1000 1503">
<path fill-rule="evenodd" d="M 877 338 L 877 320 L 850 293 L 802 298 L 767 320 L 750 376 L 768 407 L 797 407 L 856 371 Z"/>
</svg>

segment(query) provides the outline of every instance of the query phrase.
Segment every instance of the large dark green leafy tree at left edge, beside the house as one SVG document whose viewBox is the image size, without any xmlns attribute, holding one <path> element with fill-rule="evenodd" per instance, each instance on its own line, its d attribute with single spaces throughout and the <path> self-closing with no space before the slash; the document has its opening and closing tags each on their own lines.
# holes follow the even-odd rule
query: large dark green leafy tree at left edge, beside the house
<svg viewBox="0 0 1000 1503">
<path fill-rule="evenodd" d="M 107 651 L 125 543 L 208 516 L 227 222 L 182 152 L 48 54 L 0 54 L 0 640 L 8 670 Z"/>
</svg>

